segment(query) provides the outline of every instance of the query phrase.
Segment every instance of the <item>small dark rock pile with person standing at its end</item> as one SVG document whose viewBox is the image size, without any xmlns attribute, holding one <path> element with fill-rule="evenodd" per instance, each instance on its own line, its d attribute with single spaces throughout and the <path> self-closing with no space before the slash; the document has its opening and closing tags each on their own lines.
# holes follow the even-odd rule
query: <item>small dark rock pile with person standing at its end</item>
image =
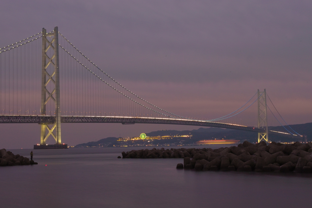
<svg viewBox="0 0 312 208">
<path fill-rule="evenodd" d="M 0 150 L 0 166 L 13 166 L 13 165 L 35 165 L 38 164 L 33 160 L 29 160 L 27 157 L 14 155 L 12 152 L 6 149 Z"/>
</svg>

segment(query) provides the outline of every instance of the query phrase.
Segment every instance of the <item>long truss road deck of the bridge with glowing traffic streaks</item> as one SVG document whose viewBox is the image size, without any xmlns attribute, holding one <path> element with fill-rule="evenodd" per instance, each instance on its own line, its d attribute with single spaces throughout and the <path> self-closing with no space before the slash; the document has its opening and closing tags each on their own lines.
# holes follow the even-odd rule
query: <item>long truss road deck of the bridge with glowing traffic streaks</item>
<svg viewBox="0 0 312 208">
<path fill-rule="evenodd" d="M 0 115 L 0 123 L 38 123 L 38 124 L 53 124 L 55 116 L 41 115 Z M 250 131 L 262 133 L 264 129 L 256 127 L 248 127 L 230 123 L 217 123 L 209 121 L 197 121 L 188 119 L 172 119 L 172 118 L 141 118 L 141 117 L 109 117 L 109 116 L 61 116 L 61 123 L 153 123 L 153 124 L 176 124 L 190 126 L 206 126 L 218 128 L 230 128 L 236 130 Z M 275 134 L 290 138 L 301 138 L 300 135 L 283 133 L 269 130 L 269 134 Z"/>
</svg>

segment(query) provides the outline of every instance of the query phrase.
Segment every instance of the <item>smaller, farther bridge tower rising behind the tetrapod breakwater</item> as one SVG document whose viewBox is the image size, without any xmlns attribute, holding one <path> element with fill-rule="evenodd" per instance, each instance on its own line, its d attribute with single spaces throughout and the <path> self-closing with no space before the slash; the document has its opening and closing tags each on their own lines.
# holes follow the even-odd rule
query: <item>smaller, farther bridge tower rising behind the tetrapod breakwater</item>
<svg viewBox="0 0 312 208">
<path fill-rule="evenodd" d="M 266 111 L 266 89 L 260 92 L 258 89 L 258 128 L 265 129 L 266 132 L 258 133 L 258 143 L 261 140 L 268 142 L 268 117 Z"/>
</svg>

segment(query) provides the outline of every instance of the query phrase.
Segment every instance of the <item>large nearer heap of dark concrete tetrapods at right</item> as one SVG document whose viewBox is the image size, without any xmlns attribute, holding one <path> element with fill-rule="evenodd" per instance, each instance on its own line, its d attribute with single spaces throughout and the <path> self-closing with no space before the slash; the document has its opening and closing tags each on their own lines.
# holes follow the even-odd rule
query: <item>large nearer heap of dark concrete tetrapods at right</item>
<svg viewBox="0 0 312 208">
<path fill-rule="evenodd" d="M 196 171 L 256 171 L 311 173 L 312 143 L 281 144 L 244 141 L 237 147 L 197 149 L 193 157 L 184 157 L 177 168 Z M 192 158 L 192 159 L 191 159 Z"/>
</svg>

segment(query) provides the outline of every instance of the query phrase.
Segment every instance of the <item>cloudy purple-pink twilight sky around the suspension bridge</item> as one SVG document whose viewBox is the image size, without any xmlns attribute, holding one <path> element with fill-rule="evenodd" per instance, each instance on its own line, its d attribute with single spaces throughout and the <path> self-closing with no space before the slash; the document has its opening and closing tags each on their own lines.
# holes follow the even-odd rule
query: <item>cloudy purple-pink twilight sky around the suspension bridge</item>
<svg viewBox="0 0 312 208">
<path fill-rule="evenodd" d="M 311 1 L 0 2 L 0 47 L 58 26 L 128 89 L 183 116 L 215 118 L 266 88 L 289 124 L 312 122 Z M 192 126 L 62 124 L 69 145 Z M 1 124 L 0 148 L 32 148 L 37 124 Z M 50 138 L 48 143 L 54 143 Z"/>
</svg>

